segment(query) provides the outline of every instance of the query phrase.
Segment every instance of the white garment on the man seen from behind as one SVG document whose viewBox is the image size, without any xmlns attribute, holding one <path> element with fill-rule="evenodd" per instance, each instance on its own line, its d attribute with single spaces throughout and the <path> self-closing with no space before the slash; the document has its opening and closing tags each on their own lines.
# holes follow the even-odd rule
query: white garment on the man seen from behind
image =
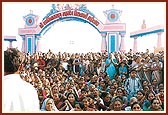
<svg viewBox="0 0 168 115">
<path fill-rule="evenodd" d="M 40 110 L 35 88 L 20 78 L 19 74 L 4 76 L 2 111 L 35 112 Z"/>
</svg>

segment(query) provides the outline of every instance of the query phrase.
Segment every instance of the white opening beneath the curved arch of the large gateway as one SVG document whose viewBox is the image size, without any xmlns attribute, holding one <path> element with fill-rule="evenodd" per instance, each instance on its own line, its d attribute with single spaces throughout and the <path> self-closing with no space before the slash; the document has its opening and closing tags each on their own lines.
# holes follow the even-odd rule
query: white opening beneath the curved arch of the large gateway
<svg viewBox="0 0 168 115">
<path fill-rule="evenodd" d="M 40 43 L 42 52 L 48 52 L 48 49 L 53 52 L 68 53 L 101 51 L 99 32 L 89 24 L 78 21 L 56 23 L 42 36 Z"/>
</svg>

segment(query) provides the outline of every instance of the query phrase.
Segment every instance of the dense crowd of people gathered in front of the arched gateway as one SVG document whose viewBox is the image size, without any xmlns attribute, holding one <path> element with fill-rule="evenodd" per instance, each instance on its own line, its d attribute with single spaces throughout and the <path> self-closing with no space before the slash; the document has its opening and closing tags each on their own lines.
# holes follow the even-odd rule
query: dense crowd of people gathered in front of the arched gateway
<svg viewBox="0 0 168 115">
<path fill-rule="evenodd" d="M 41 111 L 164 111 L 164 52 L 25 53 Z"/>
</svg>

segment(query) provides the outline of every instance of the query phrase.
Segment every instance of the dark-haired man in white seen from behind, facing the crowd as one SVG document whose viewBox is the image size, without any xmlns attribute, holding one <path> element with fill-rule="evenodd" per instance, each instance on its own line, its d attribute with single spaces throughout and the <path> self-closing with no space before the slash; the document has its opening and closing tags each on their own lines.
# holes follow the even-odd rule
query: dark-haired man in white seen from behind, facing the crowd
<svg viewBox="0 0 168 115">
<path fill-rule="evenodd" d="M 37 91 L 30 83 L 22 80 L 24 56 L 15 48 L 4 51 L 4 78 L 2 87 L 2 111 L 37 112 L 40 110 Z"/>
</svg>

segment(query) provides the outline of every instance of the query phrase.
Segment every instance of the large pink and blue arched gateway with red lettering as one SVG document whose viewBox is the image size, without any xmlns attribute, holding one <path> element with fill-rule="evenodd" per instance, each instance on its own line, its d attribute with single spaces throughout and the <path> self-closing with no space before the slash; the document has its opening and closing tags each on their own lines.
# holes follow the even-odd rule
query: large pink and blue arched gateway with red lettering
<svg viewBox="0 0 168 115">
<path fill-rule="evenodd" d="M 72 8 L 69 4 L 58 8 L 60 4 L 52 4 L 49 13 L 37 24 L 38 15 L 34 15 L 32 11 L 23 17 L 25 27 L 19 28 L 18 33 L 22 37 L 22 52 L 40 51 L 40 40 L 42 36 L 50 30 L 50 28 L 58 21 L 80 21 L 90 24 L 102 36 L 101 51 L 114 52 L 125 51 L 124 36 L 126 33 L 126 24 L 120 22 L 120 10 L 114 8 L 106 10 L 103 13 L 106 16 L 106 23 L 103 24 L 96 16 L 87 9 L 85 4 L 79 4 Z M 121 40 L 119 40 L 121 36 Z M 120 42 L 119 42 L 120 41 Z"/>
</svg>

